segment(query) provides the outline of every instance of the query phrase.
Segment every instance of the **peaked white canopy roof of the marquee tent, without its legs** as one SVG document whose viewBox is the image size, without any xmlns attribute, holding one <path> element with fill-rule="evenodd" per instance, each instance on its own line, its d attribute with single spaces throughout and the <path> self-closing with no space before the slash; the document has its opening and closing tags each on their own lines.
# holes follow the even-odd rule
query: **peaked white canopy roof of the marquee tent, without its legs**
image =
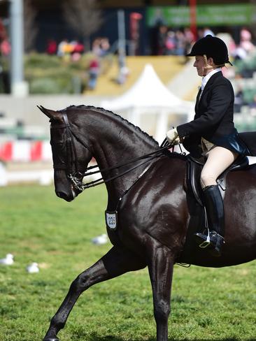
<svg viewBox="0 0 256 341">
<path fill-rule="evenodd" d="M 110 110 L 129 108 L 175 108 L 177 113 L 185 113 L 191 103 L 172 94 L 159 79 L 151 64 L 146 64 L 134 85 L 117 99 L 103 101 L 102 106 Z"/>
</svg>

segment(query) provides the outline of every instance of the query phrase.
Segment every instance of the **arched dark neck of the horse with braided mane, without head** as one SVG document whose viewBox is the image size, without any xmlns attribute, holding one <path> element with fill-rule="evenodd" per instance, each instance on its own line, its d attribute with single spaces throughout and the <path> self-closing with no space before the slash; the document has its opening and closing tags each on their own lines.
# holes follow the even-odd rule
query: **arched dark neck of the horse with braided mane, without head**
<svg viewBox="0 0 256 341">
<path fill-rule="evenodd" d="M 90 139 L 94 148 L 94 158 L 100 169 L 113 167 L 131 159 L 141 157 L 159 148 L 158 144 L 141 129 L 129 124 L 125 119 L 112 113 L 93 113 L 90 122 Z M 88 122 L 88 121 L 87 121 Z M 104 180 L 120 175 L 128 168 L 136 166 L 136 161 L 122 168 L 116 168 L 108 174 L 102 174 Z M 147 164 L 131 172 L 106 182 L 108 194 L 120 198 L 131 187 Z"/>
</svg>

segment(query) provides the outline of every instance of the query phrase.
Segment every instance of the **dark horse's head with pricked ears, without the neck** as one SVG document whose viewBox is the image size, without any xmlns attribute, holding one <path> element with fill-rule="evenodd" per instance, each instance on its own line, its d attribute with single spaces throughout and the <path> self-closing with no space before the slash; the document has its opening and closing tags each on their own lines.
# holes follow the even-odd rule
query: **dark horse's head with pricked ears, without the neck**
<svg viewBox="0 0 256 341">
<path fill-rule="evenodd" d="M 87 165 L 92 159 L 92 149 L 85 136 L 75 133 L 74 129 L 71 131 L 66 110 L 49 110 L 43 106 L 38 108 L 50 118 L 55 193 L 59 198 L 72 201 L 82 190 L 74 186 L 71 177 L 76 177 L 82 183 Z"/>
</svg>

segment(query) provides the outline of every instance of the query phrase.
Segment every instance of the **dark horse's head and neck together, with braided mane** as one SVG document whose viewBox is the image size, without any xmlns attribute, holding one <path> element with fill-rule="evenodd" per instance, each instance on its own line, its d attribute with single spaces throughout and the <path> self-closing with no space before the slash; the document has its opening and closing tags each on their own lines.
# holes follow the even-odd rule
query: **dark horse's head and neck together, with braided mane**
<svg viewBox="0 0 256 341">
<path fill-rule="evenodd" d="M 69 106 L 58 111 L 38 108 L 50 118 L 55 192 L 66 201 L 88 188 L 82 181 L 85 175 L 90 175 L 85 173 L 92 157 L 109 196 L 119 199 L 149 164 L 148 159 L 139 158 L 159 149 L 147 133 L 103 108 Z M 137 158 L 133 164 L 127 162 Z M 123 166 L 117 167 L 118 164 Z"/>
</svg>

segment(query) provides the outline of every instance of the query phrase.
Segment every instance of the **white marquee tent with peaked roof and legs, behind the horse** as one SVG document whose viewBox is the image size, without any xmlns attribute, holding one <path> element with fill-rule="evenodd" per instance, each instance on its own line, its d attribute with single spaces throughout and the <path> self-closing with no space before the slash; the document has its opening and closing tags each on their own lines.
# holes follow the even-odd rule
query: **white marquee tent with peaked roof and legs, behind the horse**
<svg viewBox="0 0 256 341">
<path fill-rule="evenodd" d="M 194 103 L 172 94 L 157 76 L 151 64 L 146 64 L 134 85 L 116 99 L 102 101 L 101 106 L 115 113 L 127 112 L 130 122 L 140 125 L 141 115 L 155 113 L 155 139 L 162 142 L 168 129 L 169 114 L 184 115 L 184 122 L 194 116 Z"/>
</svg>

